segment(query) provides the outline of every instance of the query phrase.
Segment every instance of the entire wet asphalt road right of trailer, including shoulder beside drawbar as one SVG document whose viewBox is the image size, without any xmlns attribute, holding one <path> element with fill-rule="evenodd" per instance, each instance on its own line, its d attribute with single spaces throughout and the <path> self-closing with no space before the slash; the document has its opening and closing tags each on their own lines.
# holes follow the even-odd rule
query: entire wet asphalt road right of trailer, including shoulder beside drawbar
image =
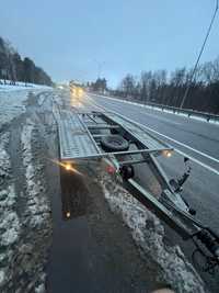
<svg viewBox="0 0 219 293">
<path fill-rule="evenodd" d="M 197 211 L 197 218 L 219 233 L 219 126 L 100 95 L 89 98 L 106 110 L 140 123 L 172 145 L 176 150 L 174 156 L 160 161 L 169 177 L 183 173 L 183 156 L 192 159 L 193 171 L 185 183 L 184 196 Z"/>
</svg>

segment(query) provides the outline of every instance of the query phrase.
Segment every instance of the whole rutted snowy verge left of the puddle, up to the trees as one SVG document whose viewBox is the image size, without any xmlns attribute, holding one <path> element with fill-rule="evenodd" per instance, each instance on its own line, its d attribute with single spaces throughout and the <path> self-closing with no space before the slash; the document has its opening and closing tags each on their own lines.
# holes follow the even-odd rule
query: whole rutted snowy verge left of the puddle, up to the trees
<svg viewBox="0 0 219 293">
<path fill-rule="evenodd" d="M 45 89 L 0 92 L 0 292 L 45 292 L 50 246 L 41 136 L 24 102 Z M 30 106 L 30 103 L 28 103 Z M 25 113 L 25 115 L 22 115 Z"/>
</svg>

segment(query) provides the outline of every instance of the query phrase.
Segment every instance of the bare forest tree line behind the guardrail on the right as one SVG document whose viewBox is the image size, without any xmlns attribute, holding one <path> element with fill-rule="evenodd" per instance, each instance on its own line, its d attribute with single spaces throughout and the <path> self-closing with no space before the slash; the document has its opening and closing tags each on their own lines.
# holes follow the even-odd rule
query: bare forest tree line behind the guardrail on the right
<svg viewBox="0 0 219 293">
<path fill-rule="evenodd" d="M 140 77 L 128 74 L 112 93 L 142 103 L 178 108 L 189 87 L 183 108 L 219 114 L 219 57 L 200 65 L 194 78 L 192 72 L 193 68 L 183 67 L 171 74 L 166 70 L 142 71 Z"/>
</svg>

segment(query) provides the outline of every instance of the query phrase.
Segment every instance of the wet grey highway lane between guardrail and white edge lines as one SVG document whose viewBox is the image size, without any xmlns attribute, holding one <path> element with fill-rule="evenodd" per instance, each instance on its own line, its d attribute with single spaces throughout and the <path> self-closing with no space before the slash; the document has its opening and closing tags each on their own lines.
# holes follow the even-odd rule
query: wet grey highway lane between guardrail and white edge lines
<svg viewBox="0 0 219 293">
<path fill-rule="evenodd" d="M 150 131 L 152 129 L 153 134 L 162 134 L 163 140 L 219 173 L 218 125 L 124 103 L 119 100 L 97 95 L 92 95 L 92 99 L 100 105 L 145 125 Z"/>
</svg>

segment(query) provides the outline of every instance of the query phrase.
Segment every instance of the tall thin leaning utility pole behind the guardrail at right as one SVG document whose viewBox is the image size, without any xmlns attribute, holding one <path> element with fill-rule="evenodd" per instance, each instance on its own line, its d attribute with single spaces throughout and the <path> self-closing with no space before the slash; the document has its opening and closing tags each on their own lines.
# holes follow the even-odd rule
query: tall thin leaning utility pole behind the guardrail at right
<svg viewBox="0 0 219 293">
<path fill-rule="evenodd" d="M 180 105 L 181 109 L 184 106 L 185 100 L 186 100 L 186 98 L 187 98 L 187 95 L 188 95 L 188 91 L 189 91 L 189 89 L 191 89 L 191 84 L 192 84 L 193 79 L 194 79 L 194 77 L 195 77 L 195 72 L 196 72 L 196 70 L 197 70 L 197 67 L 198 67 L 198 64 L 199 64 L 199 60 L 200 60 L 200 56 L 203 55 L 204 48 L 205 48 L 205 46 L 206 46 L 208 36 L 209 36 L 210 31 L 211 31 L 211 27 L 212 27 L 212 24 L 214 24 L 214 22 L 215 22 L 217 12 L 218 12 L 218 0 L 216 0 L 216 9 L 215 9 L 215 12 L 214 12 L 214 14 L 212 14 L 212 18 L 211 18 L 211 21 L 210 21 L 210 25 L 209 25 L 209 27 L 208 27 L 206 37 L 205 37 L 205 40 L 204 40 L 203 46 L 201 46 L 201 48 L 200 48 L 200 52 L 199 52 L 199 54 L 198 54 L 198 57 L 197 57 L 196 64 L 195 64 L 195 66 L 194 66 L 194 69 L 193 69 L 193 71 L 192 71 L 191 78 L 189 78 L 189 80 L 188 80 L 187 88 L 186 88 L 185 93 L 184 93 L 184 95 L 183 95 L 183 100 L 182 100 L 181 105 Z"/>
</svg>

